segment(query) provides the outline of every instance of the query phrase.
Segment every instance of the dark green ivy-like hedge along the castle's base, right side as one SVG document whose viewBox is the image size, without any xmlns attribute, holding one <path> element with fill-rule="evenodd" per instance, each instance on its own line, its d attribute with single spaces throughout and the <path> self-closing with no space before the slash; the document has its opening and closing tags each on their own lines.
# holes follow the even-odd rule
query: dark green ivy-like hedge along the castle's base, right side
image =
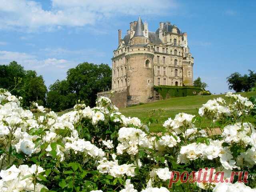
<svg viewBox="0 0 256 192">
<path fill-rule="evenodd" d="M 163 99 L 198 95 L 202 88 L 194 86 L 154 86 Z"/>
</svg>

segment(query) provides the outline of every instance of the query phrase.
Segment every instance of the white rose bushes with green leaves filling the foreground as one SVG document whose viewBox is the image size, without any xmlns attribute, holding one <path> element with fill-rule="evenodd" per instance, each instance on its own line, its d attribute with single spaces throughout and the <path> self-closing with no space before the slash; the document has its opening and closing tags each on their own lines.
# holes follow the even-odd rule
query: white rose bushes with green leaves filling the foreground
<svg viewBox="0 0 256 192">
<path fill-rule="evenodd" d="M 78 102 L 62 116 L 36 117 L 20 106 L 22 98 L 0 89 L 0 190 L 256 191 L 255 104 L 232 93 L 226 97 L 228 104 L 209 100 L 198 116 L 169 118 L 156 134 L 148 132 L 154 118 L 144 124 L 127 118 L 108 98 L 99 98 L 94 108 Z M 224 171 L 225 178 L 248 171 L 249 182 L 178 182 L 168 189 L 171 171 L 205 167 Z"/>
</svg>

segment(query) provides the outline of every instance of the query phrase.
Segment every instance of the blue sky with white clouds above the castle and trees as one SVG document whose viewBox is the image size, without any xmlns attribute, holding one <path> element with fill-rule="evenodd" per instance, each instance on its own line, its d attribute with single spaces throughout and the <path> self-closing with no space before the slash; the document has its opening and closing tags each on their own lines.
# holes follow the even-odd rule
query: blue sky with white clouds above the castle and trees
<svg viewBox="0 0 256 192">
<path fill-rule="evenodd" d="M 232 72 L 256 70 L 255 10 L 254 0 L 1 0 L 0 64 L 16 60 L 47 86 L 81 62 L 110 65 L 118 29 L 124 37 L 140 15 L 150 31 L 170 21 L 187 32 L 194 78 L 223 93 Z"/>
</svg>

